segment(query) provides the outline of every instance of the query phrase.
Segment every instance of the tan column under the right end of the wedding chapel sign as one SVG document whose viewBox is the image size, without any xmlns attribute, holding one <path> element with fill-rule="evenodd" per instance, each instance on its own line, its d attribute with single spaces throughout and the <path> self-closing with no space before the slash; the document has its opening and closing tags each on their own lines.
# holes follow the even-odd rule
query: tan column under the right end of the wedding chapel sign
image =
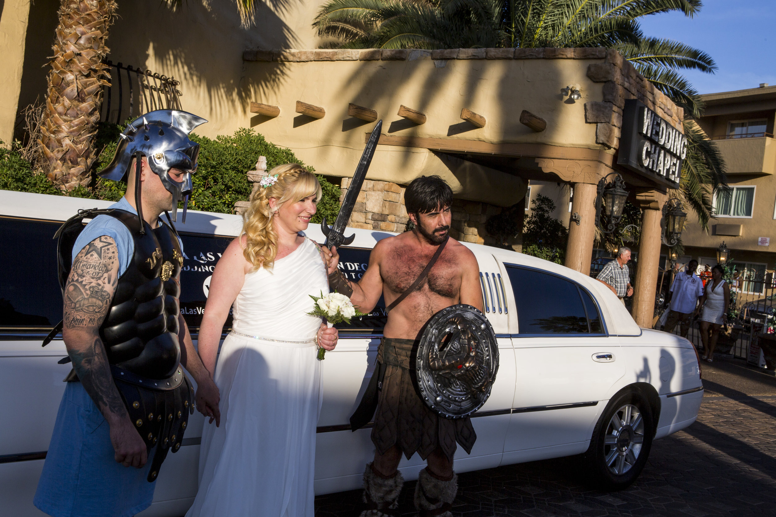
<svg viewBox="0 0 776 517">
<path fill-rule="evenodd" d="M 657 208 L 645 208 L 641 218 L 639 262 L 636 265 L 636 285 L 633 286 L 633 319 L 639 326 L 652 328 L 657 286 L 657 268 L 660 264 L 662 213 Z"/>
</svg>

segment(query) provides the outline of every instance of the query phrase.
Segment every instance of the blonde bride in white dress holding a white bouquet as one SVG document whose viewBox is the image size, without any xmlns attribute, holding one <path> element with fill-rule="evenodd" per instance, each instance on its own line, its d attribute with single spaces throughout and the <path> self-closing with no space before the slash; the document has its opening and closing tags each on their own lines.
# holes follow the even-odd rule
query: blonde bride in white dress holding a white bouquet
<svg viewBox="0 0 776 517">
<path fill-rule="evenodd" d="M 314 515 L 316 343 L 334 350 L 338 338 L 306 314 L 310 295 L 328 293 L 320 249 L 301 233 L 320 196 L 317 178 L 300 165 L 273 168 L 213 272 L 199 354 L 215 371 L 220 413 L 203 429 L 199 491 L 186 517 Z M 216 367 L 230 307 L 233 330 Z"/>
</svg>

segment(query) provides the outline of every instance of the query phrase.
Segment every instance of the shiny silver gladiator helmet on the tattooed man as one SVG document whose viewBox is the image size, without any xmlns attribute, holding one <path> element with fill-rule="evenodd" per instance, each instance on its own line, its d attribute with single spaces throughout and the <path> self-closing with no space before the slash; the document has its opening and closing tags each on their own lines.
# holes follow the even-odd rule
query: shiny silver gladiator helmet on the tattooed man
<svg viewBox="0 0 776 517">
<path fill-rule="evenodd" d="M 205 122 L 197 115 L 175 109 L 158 109 L 146 113 L 126 126 L 119 135 L 121 140 L 113 160 L 97 174 L 109 180 L 122 181 L 130 172 L 132 158 L 138 155 L 146 157 L 151 171 L 158 174 L 161 183 L 172 194 L 171 219 L 178 220 L 178 202 L 183 199 L 182 219 L 185 222 L 189 196 L 192 194 L 191 175 L 196 171 L 199 157 L 199 143 L 190 140 L 189 133 Z M 183 180 L 173 181 L 168 174 L 170 169 L 185 172 Z M 136 198 L 136 202 L 140 213 L 140 199 Z"/>
</svg>

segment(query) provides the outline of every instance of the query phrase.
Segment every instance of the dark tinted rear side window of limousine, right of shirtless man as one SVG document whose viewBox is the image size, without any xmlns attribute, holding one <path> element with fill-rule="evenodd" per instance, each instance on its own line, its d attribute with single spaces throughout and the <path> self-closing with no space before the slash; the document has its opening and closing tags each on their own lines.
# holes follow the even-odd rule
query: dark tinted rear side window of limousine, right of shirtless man
<svg viewBox="0 0 776 517">
<path fill-rule="evenodd" d="M 527 267 L 508 266 L 521 334 L 603 333 L 601 315 L 573 281 Z"/>
</svg>

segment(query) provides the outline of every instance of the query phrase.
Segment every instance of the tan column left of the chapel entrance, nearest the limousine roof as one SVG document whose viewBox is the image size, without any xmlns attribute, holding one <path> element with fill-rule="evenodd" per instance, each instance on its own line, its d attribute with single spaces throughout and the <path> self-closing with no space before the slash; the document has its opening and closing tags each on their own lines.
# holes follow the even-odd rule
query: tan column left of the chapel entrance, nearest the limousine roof
<svg viewBox="0 0 776 517">
<path fill-rule="evenodd" d="M 574 194 L 571 214 L 579 215 L 579 222 L 569 222 L 569 240 L 566 243 L 566 267 L 582 274 L 590 274 L 595 239 L 595 198 L 597 185 L 573 184 Z"/>
</svg>

